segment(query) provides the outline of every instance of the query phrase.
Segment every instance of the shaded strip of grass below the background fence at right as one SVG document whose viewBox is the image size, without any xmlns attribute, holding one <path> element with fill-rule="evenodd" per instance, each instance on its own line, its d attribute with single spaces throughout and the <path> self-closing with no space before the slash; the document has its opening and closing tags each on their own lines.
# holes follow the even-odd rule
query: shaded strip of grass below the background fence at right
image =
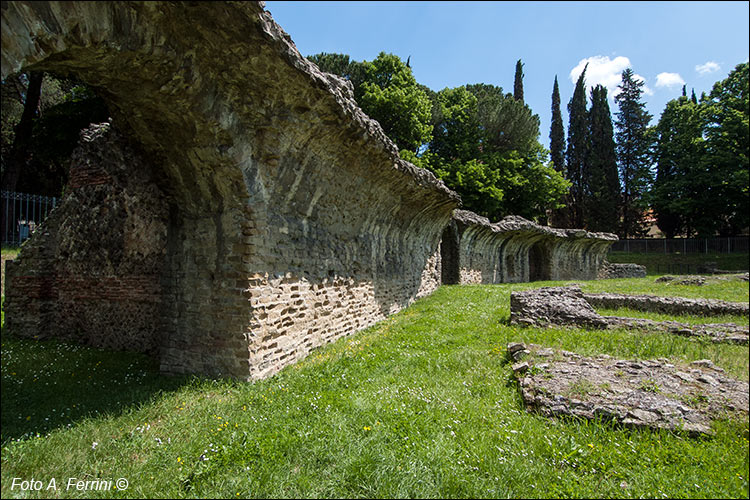
<svg viewBox="0 0 750 500">
<path fill-rule="evenodd" d="M 612 263 L 629 263 L 646 266 L 646 273 L 657 274 L 699 274 L 698 268 L 708 262 L 717 269 L 727 271 L 747 271 L 750 254 L 747 253 L 625 253 L 609 252 L 607 260 Z"/>
</svg>

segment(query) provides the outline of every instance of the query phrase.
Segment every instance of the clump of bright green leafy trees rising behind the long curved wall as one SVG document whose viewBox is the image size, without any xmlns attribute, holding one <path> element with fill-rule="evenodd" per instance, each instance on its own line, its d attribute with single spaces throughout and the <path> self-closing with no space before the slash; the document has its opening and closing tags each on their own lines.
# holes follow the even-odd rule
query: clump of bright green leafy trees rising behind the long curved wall
<svg viewBox="0 0 750 500">
<path fill-rule="evenodd" d="M 559 205 L 568 184 L 546 164 L 539 117 L 502 88 L 434 92 L 392 54 L 362 63 L 343 54 L 309 59 L 352 81 L 358 104 L 380 122 L 401 157 L 434 172 L 468 210 L 495 220 L 509 214 L 539 219 Z"/>
</svg>

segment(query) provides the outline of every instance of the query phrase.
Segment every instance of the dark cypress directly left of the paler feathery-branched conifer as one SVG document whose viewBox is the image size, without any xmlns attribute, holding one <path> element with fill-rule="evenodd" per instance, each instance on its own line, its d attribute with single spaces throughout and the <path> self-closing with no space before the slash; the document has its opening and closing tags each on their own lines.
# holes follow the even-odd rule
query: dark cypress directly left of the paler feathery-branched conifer
<svg viewBox="0 0 750 500">
<path fill-rule="evenodd" d="M 602 85 L 591 90 L 589 127 L 591 147 L 587 160 L 586 228 L 590 231 L 616 232 L 619 226 L 620 179 L 612 115 L 607 102 L 607 89 Z"/>
</svg>

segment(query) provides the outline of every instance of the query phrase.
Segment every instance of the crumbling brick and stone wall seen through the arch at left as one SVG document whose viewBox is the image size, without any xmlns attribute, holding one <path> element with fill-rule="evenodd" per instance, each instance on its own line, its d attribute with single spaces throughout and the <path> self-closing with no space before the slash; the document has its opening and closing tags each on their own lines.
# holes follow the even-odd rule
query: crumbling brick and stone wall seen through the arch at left
<svg viewBox="0 0 750 500">
<path fill-rule="evenodd" d="M 60 206 L 7 263 L 10 331 L 158 353 L 169 212 L 150 171 L 108 123 L 84 132 Z"/>
</svg>

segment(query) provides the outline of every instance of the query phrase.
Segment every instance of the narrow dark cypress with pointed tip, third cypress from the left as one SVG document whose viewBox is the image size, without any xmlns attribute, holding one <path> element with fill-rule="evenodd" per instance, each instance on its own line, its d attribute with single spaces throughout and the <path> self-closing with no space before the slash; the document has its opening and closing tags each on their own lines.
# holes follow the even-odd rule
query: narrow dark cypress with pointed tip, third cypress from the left
<svg viewBox="0 0 750 500">
<path fill-rule="evenodd" d="M 586 69 L 578 77 L 576 88 L 568 103 L 568 150 L 566 152 L 567 178 L 570 186 L 570 223 L 582 228 L 584 224 L 584 175 L 589 149 L 588 113 L 586 111 Z"/>
</svg>

